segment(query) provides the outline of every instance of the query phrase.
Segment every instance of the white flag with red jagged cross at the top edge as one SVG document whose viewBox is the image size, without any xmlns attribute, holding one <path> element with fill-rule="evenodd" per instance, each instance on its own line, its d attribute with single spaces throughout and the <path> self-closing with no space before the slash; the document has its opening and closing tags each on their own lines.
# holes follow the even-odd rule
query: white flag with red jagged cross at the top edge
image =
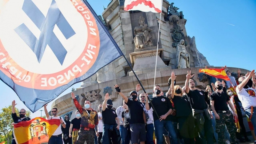
<svg viewBox="0 0 256 144">
<path fill-rule="evenodd" d="M 125 11 L 162 12 L 162 0 L 125 0 Z"/>
</svg>

